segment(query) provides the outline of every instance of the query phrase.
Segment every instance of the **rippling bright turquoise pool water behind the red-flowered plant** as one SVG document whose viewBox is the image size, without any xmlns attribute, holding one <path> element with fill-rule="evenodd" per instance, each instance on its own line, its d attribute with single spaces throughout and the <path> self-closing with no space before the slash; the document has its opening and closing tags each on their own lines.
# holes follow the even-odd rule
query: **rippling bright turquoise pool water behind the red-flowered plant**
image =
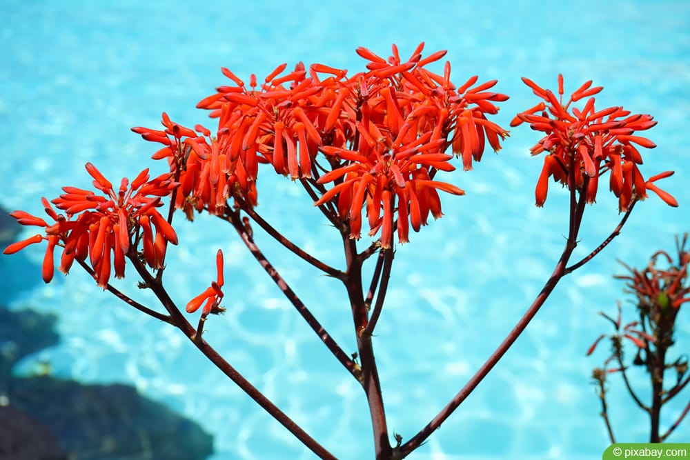
<svg viewBox="0 0 690 460">
<path fill-rule="evenodd" d="M 598 106 L 651 113 L 658 144 L 645 152 L 645 176 L 675 169 L 662 186 L 680 208 L 651 196 L 619 239 L 558 286 L 523 337 L 453 416 L 411 459 L 595 459 L 607 446 L 590 383 L 606 346 L 584 352 L 615 312 L 622 270 L 615 259 L 646 263 L 673 236 L 690 230 L 687 127 L 690 123 L 690 3 L 676 1 L 23 1 L 0 2 L 0 203 L 38 213 L 39 198 L 64 185 L 88 186 L 92 161 L 113 181 L 161 165 L 132 126 L 158 126 L 162 111 L 187 126 L 206 123 L 197 101 L 224 84 L 225 66 L 243 78 L 279 63 L 321 62 L 362 69 L 354 50 L 388 55 L 417 43 L 449 50 L 454 81 L 478 74 L 511 95 L 497 121 L 537 101 L 520 81 L 553 88 L 562 72 L 574 90 L 604 86 Z M 567 89 L 566 89 L 567 91 Z M 498 155 L 457 172 L 466 197 L 444 198 L 445 216 L 396 252 L 375 348 L 391 430 L 408 439 L 489 356 L 551 273 L 567 232 L 564 194 L 552 188 L 533 206 L 538 133 L 518 128 Z M 289 181 L 264 175 L 259 210 L 296 243 L 341 263 L 337 235 Z M 577 255 L 618 222 L 602 197 L 586 212 Z M 179 222 L 171 250 L 170 294 L 180 304 L 213 277 L 226 252 L 224 317 L 208 341 L 250 381 L 343 459 L 371 458 L 370 422 L 353 379 L 297 317 L 232 232 L 210 219 Z M 31 231 L 31 230 L 29 230 Z M 28 236 L 27 232 L 25 236 Z M 259 237 L 270 261 L 327 330 L 355 350 L 344 292 L 337 283 Z M 194 419 L 215 436 L 213 460 L 308 459 L 311 453 L 227 381 L 173 328 L 144 317 L 73 270 L 39 283 L 41 249 L 0 259 L 8 272 L 0 301 L 59 314 L 63 341 L 23 363 L 49 361 L 55 374 L 85 382 L 124 382 Z M 25 258 L 25 259 L 22 259 Z M 12 264 L 16 264 L 12 266 Z M 34 283 L 36 281 L 36 283 Z M 135 279 L 119 283 L 143 302 Z M 632 315 L 629 315 L 632 317 Z M 680 321 L 687 352 L 690 320 Z M 642 376 L 643 377 L 643 376 Z M 642 377 L 638 383 L 642 382 Z M 644 415 L 612 386 L 611 417 L 620 441 L 647 437 Z M 684 396 L 687 401 L 687 390 Z M 683 401 L 667 409 L 669 423 Z M 675 411 L 675 412 L 674 412 Z M 684 423 L 669 441 L 690 441 Z"/>
</svg>

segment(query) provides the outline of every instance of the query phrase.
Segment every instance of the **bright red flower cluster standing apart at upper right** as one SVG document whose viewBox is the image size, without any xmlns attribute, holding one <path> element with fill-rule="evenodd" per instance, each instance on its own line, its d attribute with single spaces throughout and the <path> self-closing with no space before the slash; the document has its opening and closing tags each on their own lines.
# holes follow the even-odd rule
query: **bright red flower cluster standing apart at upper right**
<svg viewBox="0 0 690 460">
<path fill-rule="evenodd" d="M 673 171 L 662 172 L 645 181 L 638 168 L 642 155 L 636 146 L 655 147 L 649 139 L 635 135 L 636 131 L 655 126 L 651 115 L 631 115 L 622 107 L 596 110 L 592 96 L 603 88 L 591 88 L 591 81 L 575 90 L 565 105 L 562 75 L 558 76 L 558 97 L 530 79 L 523 77 L 522 81 L 544 99 L 533 108 L 518 113 L 511 122 L 511 126 L 529 123 L 533 130 L 546 134 L 530 149 L 533 155 L 547 152 L 535 191 L 537 206 L 543 206 L 546 201 L 549 177 L 584 193 L 587 203 L 594 203 L 599 179 L 607 171 L 611 172 L 609 186 L 618 198 L 621 212 L 628 210 L 633 199 L 646 198 L 647 190 L 658 194 L 670 206 L 678 206 L 671 194 L 653 183 L 669 177 Z M 585 98 L 589 99 L 582 109 L 571 107 L 572 103 Z"/>
</svg>

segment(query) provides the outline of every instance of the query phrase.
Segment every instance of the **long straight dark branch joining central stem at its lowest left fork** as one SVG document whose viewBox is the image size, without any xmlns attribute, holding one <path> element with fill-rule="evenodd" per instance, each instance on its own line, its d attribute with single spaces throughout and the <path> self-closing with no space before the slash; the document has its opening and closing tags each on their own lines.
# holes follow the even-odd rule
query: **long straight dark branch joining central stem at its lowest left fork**
<svg viewBox="0 0 690 460">
<path fill-rule="evenodd" d="M 254 239 L 250 236 L 250 234 L 247 232 L 244 223 L 239 219 L 239 214 L 237 212 L 233 212 L 230 210 L 226 210 L 225 217 L 232 224 L 232 226 L 237 230 L 237 233 L 239 234 L 239 237 L 242 238 L 242 241 L 244 242 L 245 246 L 249 249 L 249 251 L 252 253 L 254 258 L 259 262 L 259 264 L 264 268 L 266 273 L 268 273 L 268 276 L 273 279 L 273 282 L 282 290 L 283 294 L 285 297 L 290 301 L 290 303 L 293 304 L 297 312 L 299 312 L 300 315 L 302 315 L 302 318 L 304 318 L 304 321 L 312 328 L 314 332 L 319 336 L 319 339 L 321 339 L 324 344 L 326 344 L 326 347 L 328 347 L 328 350 L 331 350 L 333 355 L 337 358 L 338 361 L 350 372 L 353 374 L 353 377 L 355 379 L 360 380 L 361 376 L 359 374 L 359 368 L 357 366 L 357 363 L 353 361 L 348 355 L 340 348 L 340 346 L 335 342 L 333 337 L 331 337 L 331 334 L 328 334 L 328 332 L 324 329 L 324 326 L 319 323 L 319 321 L 314 317 L 313 314 L 306 308 L 304 303 L 297 297 L 297 294 L 288 286 L 288 283 L 283 279 L 283 277 L 280 276 L 280 274 L 273 268 L 273 266 L 270 264 L 268 259 L 264 256 L 264 254 L 259 250 L 259 247 L 256 245 L 254 242 Z"/>
</svg>

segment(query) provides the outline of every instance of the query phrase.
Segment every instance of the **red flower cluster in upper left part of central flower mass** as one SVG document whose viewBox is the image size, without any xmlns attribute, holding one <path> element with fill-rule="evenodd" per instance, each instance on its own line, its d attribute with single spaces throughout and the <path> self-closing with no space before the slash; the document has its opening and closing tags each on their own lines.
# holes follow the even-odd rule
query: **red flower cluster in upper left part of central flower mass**
<svg viewBox="0 0 690 460">
<path fill-rule="evenodd" d="M 234 85 L 219 86 L 216 94 L 197 105 L 212 110 L 210 115 L 219 119 L 219 132 L 230 133 L 227 161 L 239 159 L 250 181 L 256 179 L 259 162 L 272 163 L 276 172 L 292 179 L 311 177 L 312 159 L 322 144 L 317 119 L 326 120 L 322 108 L 335 99 L 333 90 L 327 90 L 335 78 L 322 82 L 314 71 L 307 77 L 302 63 L 279 77 L 285 68 L 282 64 L 270 72 L 261 88 L 255 74 L 247 88 L 223 68 Z"/>
</svg>

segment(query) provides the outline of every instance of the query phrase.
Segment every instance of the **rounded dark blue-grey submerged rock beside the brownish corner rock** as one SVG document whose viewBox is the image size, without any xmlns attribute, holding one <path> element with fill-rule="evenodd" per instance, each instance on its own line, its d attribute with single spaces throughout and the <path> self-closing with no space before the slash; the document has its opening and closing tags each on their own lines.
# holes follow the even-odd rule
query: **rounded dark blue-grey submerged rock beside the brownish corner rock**
<svg viewBox="0 0 690 460">
<path fill-rule="evenodd" d="M 213 437 L 197 424 L 130 386 L 41 376 L 14 379 L 9 397 L 79 460 L 201 460 L 213 453 Z"/>
</svg>

